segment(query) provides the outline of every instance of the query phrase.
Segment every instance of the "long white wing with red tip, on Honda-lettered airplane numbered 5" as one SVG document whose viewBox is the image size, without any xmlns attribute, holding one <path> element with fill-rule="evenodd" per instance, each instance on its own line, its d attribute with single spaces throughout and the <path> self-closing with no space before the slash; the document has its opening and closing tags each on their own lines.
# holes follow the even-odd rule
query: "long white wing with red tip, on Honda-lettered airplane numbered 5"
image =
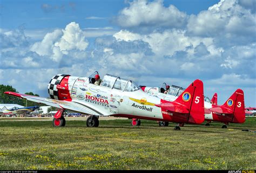
<svg viewBox="0 0 256 173">
<path fill-rule="evenodd" d="M 73 101 L 65 101 L 65 100 L 54 100 L 54 99 L 48 99 L 48 98 L 41 98 L 39 96 L 33 96 L 33 95 L 26 95 L 26 94 L 19 94 L 15 92 L 4 92 L 4 94 L 17 96 L 19 98 L 27 99 L 29 101 L 37 102 L 37 103 L 44 103 L 45 105 L 49 105 L 52 107 L 57 107 L 61 109 L 69 109 L 73 110 L 75 112 L 80 112 L 84 114 L 92 114 L 92 115 L 103 115 L 102 113 L 98 112 L 95 109 L 92 109 L 89 105 L 86 105 L 86 103 L 77 103 Z"/>
</svg>

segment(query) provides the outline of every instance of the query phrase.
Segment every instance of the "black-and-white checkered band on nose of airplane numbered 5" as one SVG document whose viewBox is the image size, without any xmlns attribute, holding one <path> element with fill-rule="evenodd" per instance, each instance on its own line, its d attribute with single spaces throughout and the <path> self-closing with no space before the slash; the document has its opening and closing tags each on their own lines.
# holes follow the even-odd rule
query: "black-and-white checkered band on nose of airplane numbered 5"
<svg viewBox="0 0 256 173">
<path fill-rule="evenodd" d="M 52 99 L 58 100 L 58 89 L 57 85 L 60 84 L 60 81 L 66 76 L 67 74 L 57 74 L 53 77 L 49 84 L 48 84 L 48 93 L 50 94 Z"/>
</svg>

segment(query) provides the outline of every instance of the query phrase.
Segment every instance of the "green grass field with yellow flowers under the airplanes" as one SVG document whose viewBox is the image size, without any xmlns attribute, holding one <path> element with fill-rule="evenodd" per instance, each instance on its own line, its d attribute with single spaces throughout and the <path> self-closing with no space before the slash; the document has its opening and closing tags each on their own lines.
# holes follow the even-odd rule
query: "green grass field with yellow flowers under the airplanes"
<svg viewBox="0 0 256 173">
<path fill-rule="evenodd" d="M 205 124 L 205 123 L 204 123 Z M 142 120 L 1 121 L 0 169 L 256 169 L 256 118 L 244 124 L 159 127 Z"/>
</svg>

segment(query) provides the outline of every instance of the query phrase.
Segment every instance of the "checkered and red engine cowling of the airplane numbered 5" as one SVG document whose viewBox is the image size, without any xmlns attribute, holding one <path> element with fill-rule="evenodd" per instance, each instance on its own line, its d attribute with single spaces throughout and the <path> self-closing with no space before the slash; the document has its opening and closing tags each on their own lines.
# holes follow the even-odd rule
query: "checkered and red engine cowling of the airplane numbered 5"
<svg viewBox="0 0 256 173">
<path fill-rule="evenodd" d="M 55 100 L 71 100 L 69 92 L 69 77 L 68 74 L 55 75 L 48 84 L 48 93 L 51 99 Z"/>
</svg>

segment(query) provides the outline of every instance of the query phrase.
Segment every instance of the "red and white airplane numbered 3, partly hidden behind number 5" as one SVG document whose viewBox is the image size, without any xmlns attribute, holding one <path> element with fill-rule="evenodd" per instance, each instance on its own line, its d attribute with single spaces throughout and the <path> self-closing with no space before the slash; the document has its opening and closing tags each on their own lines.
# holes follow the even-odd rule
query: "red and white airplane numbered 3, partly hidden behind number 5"
<svg viewBox="0 0 256 173">
<path fill-rule="evenodd" d="M 185 90 L 182 87 L 172 85 L 167 94 L 164 94 L 165 89 L 163 84 L 161 87 L 140 87 L 147 94 L 167 101 L 175 100 Z M 217 93 L 214 93 L 211 100 L 207 96 L 204 96 L 206 126 L 210 126 L 212 121 L 223 122 L 224 125 L 221 128 L 227 128 L 228 123 L 245 122 L 246 111 L 242 89 L 237 89 L 223 105 L 217 105 L 217 99 Z M 168 126 L 168 123 L 160 121 L 159 126 Z M 184 126 L 184 124 L 180 124 L 180 126 Z"/>
</svg>

